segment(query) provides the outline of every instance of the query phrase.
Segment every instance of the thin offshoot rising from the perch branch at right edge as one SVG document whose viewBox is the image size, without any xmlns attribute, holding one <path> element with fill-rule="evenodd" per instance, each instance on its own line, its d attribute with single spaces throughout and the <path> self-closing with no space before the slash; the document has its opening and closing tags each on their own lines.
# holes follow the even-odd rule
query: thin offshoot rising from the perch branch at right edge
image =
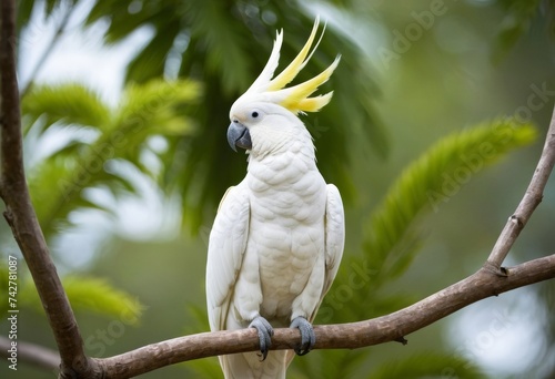
<svg viewBox="0 0 555 379">
<path fill-rule="evenodd" d="M 505 275 L 505 272 L 501 268 L 503 260 L 507 256 L 511 247 L 515 243 L 518 234 L 528 222 L 532 213 L 536 206 L 542 202 L 543 193 L 549 174 L 555 165 L 555 109 L 553 110 L 552 120 L 549 123 L 549 130 L 547 131 L 547 136 L 545 139 L 544 150 L 539 162 L 537 163 L 536 171 L 532 176 L 528 188 L 524 194 L 523 199 L 516 207 L 515 213 L 508 217 L 507 224 L 503 228 L 495 246 L 487 258 L 485 267 L 488 267 L 497 275 Z"/>
</svg>

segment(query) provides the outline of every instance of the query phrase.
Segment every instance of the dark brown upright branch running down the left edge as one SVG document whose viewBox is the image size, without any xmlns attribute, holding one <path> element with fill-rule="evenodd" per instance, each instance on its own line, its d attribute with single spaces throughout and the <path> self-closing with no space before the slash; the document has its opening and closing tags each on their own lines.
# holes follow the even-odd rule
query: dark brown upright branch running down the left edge
<svg viewBox="0 0 555 379">
<path fill-rule="evenodd" d="M 87 372 L 89 359 L 44 236 L 31 204 L 23 168 L 23 147 L 16 74 L 16 2 L 0 6 L 0 195 L 10 225 L 37 286 L 62 360 L 62 377 L 71 369 Z"/>
</svg>

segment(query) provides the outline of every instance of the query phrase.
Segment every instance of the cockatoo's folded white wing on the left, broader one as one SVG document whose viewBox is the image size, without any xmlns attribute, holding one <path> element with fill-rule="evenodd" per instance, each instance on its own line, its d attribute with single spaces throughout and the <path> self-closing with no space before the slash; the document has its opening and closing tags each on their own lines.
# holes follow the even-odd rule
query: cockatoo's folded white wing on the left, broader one
<svg viewBox="0 0 555 379">
<path fill-rule="evenodd" d="M 230 187 L 210 233 L 206 262 L 206 303 L 211 330 L 225 329 L 231 295 L 249 238 L 250 203 L 244 185 Z"/>
</svg>

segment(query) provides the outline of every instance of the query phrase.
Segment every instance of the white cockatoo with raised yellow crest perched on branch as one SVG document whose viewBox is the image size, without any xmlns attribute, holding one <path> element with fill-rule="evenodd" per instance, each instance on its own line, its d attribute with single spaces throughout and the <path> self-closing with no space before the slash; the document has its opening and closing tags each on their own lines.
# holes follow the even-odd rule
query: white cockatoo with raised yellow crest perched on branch
<svg viewBox="0 0 555 379">
<path fill-rule="evenodd" d="M 310 95 L 340 57 L 315 78 L 285 88 L 309 62 L 317 28 L 316 18 L 299 55 L 272 79 L 283 41 L 278 32 L 262 73 L 231 107 L 228 141 L 246 150 L 249 164 L 244 180 L 224 194 L 210 233 L 208 314 L 211 330 L 255 328 L 261 354 L 219 357 L 225 378 L 285 378 L 294 355 L 269 352 L 273 328 L 299 328 L 295 352 L 311 350 L 311 322 L 343 255 L 341 195 L 320 174 L 313 140 L 297 117 L 331 100 L 331 92 Z"/>
</svg>

